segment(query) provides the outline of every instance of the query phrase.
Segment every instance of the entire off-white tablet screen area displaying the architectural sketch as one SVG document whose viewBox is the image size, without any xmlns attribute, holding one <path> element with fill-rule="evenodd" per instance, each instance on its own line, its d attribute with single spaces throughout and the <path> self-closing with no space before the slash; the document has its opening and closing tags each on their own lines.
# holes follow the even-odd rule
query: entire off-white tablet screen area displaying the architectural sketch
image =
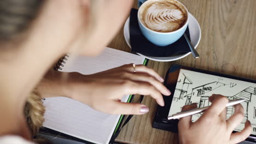
<svg viewBox="0 0 256 144">
<path fill-rule="evenodd" d="M 241 103 L 245 109 L 245 118 L 235 130 L 241 131 L 249 120 L 253 127 L 252 134 L 256 135 L 256 84 L 251 82 L 181 69 L 168 116 L 180 112 L 182 106 L 191 103 L 197 103 L 197 107 L 211 105 L 208 98 L 212 94 L 222 94 L 230 100 L 245 99 Z M 228 107 L 226 118 L 233 113 L 234 107 Z M 195 122 L 201 115 L 193 115 L 192 121 Z"/>
</svg>

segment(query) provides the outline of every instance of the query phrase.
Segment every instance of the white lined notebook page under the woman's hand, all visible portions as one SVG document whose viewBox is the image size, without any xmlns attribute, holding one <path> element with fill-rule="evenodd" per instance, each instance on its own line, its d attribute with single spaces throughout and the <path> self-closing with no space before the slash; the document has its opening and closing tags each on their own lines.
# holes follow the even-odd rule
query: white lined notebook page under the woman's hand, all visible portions
<svg viewBox="0 0 256 144">
<path fill-rule="evenodd" d="M 144 58 L 131 53 L 106 48 L 98 57 L 69 56 L 61 71 L 94 74 L 123 64 L 143 64 Z M 125 95 L 122 101 L 127 101 Z M 46 112 L 44 127 L 60 131 L 94 143 L 109 143 L 120 115 L 108 115 L 69 98 L 44 100 Z"/>
</svg>

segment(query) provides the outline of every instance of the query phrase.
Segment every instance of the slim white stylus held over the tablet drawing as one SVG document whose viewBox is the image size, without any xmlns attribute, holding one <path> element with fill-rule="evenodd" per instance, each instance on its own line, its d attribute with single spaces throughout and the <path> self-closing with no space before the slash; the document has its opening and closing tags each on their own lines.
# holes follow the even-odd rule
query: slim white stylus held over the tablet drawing
<svg viewBox="0 0 256 144">
<path fill-rule="evenodd" d="M 229 103 L 226 104 L 226 107 L 242 103 L 243 101 L 245 101 L 245 99 L 229 100 Z M 196 109 L 192 109 L 192 110 L 188 110 L 188 111 L 183 111 L 183 112 L 178 112 L 178 113 L 176 113 L 172 116 L 168 116 L 168 120 L 178 119 L 178 118 L 182 118 L 182 117 L 195 115 L 196 113 L 201 113 L 201 112 L 205 111 L 206 109 L 208 109 L 208 107 L 210 107 L 210 106 L 200 107 L 200 108 L 196 108 Z"/>
</svg>

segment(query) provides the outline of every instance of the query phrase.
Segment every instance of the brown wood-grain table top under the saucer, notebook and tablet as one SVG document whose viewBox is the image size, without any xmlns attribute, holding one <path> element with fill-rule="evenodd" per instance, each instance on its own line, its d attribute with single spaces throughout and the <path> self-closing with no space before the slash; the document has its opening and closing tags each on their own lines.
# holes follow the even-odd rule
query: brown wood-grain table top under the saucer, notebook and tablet
<svg viewBox="0 0 256 144">
<path fill-rule="evenodd" d="M 161 76 L 165 76 L 172 64 L 212 70 L 256 79 L 256 1 L 255 0 L 180 0 L 200 23 L 202 37 L 197 51 L 199 59 L 192 55 L 174 62 L 149 61 Z M 134 8 L 137 8 L 135 1 Z M 126 44 L 123 28 L 108 45 L 131 52 Z M 137 100 L 135 97 L 134 101 Z M 135 116 L 117 137 L 121 143 L 178 143 L 178 135 L 152 128 L 156 102 L 144 97 L 143 104 L 149 113 Z"/>
</svg>

